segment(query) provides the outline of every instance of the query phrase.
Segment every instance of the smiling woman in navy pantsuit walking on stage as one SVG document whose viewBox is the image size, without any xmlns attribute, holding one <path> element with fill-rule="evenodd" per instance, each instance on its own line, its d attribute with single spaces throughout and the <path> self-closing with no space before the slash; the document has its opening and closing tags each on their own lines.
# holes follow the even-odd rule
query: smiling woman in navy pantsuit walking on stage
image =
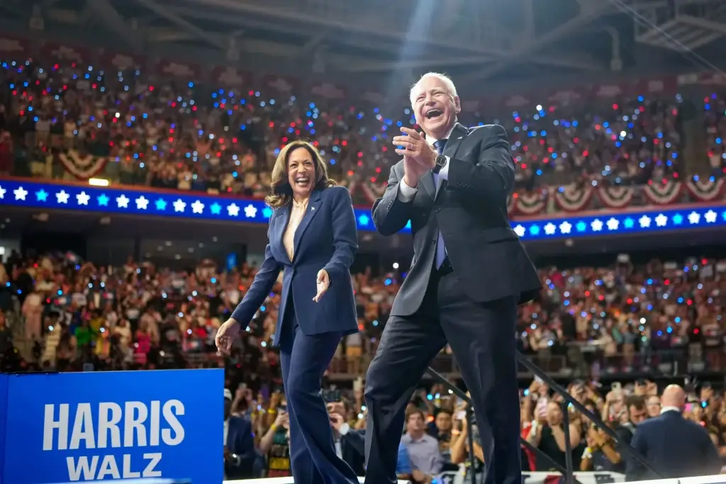
<svg viewBox="0 0 726 484">
<path fill-rule="evenodd" d="M 293 141 L 272 169 L 274 209 L 265 260 L 232 318 L 219 327 L 217 348 L 229 353 L 282 271 L 282 298 L 273 345 L 280 347 L 290 415 L 290 464 L 296 483 L 353 484 L 356 475 L 336 453 L 320 393 L 323 373 L 343 335 L 358 331 L 348 270 L 358 250 L 353 202 L 335 186 L 315 147 Z"/>
</svg>

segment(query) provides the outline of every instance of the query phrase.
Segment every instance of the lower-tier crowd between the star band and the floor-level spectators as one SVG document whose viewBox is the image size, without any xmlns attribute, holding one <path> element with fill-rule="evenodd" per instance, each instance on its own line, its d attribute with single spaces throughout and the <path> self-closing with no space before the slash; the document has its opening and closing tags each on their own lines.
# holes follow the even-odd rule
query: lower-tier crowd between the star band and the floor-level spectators
<svg viewBox="0 0 726 484">
<path fill-rule="evenodd" d="M 330 372 L 365 371 L 402 271 L 354 274 L 362 332 L 344 338 Z M 706 258 L 541 268 L 544 290 L 520 308 L 520 350 L 552 372 L 577 377 L 676 361 L 682 368 L 722 369 L 725 272 L 726 261 Z M 6 319 L 23 316 L 22 328 L 9 333 L 23 348 L 23 364 L 69 370 L 89 362 L 98 369 L 216 365 L 216 328 L 255 273 L 246 264 L 227 271 L 210 260 L 171 271 L 131 258 L 113 268 L 76 255 L 13 253 L 0 270 L 0 309 Z M 250 378 L 279 379 L 272 350 L 279 303 L 278 284 L 240 341 Z M 548 358 L 562 363 L 548 367 Z"/>
</svg>

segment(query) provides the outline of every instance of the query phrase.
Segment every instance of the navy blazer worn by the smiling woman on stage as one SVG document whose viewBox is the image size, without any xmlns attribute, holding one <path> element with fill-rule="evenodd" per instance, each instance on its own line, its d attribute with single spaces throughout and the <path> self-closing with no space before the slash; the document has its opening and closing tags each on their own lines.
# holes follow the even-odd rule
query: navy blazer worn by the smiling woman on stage
<svg viewBox="0 0 726 484">
<path fill-rule="evenodd" d="M 349 270 L 358 250 L 358 233 L 348 189 L 331 186 L 311 193 L 305 216 L 295 231 L 293 261 L 282 245 L 289 218 L 289 205 L 272 213 L 265 260 L 250 290 L 232 313 L 232 319 L 246 326 L 272 291 L 282 270 L 282 298 L 273 345 L 280 344 L 280 327 L 290 301 L 293 303 L 290 309 L 294 309 L 304 335 L 358 331 Z M 316 303 L 313 298 L 317 294 L 320 269 L 325 269 L 330 276 L 330 287 Z"/>
</svg>

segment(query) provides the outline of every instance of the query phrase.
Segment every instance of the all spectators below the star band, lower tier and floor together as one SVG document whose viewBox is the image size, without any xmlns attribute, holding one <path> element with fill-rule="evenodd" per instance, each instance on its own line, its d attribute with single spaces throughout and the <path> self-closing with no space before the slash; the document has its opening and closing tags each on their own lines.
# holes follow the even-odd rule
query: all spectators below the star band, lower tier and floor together
<svg viewBox="0 0 726 484">
<path fill-rule="evenodd" d="M 521 350 L 538 358 L 566 358 L 563 366 L 581 372 L 572 376 L 589 382 L 571 385 L 573 395 L 582 395 L 582 402 L 606 421 L 627 427 L 627 422 L 637 423 L 646 411 L 657 413 L 656 387 L 652 382 L 638 382 L 623 385 L 618 393 L 613 385 L 615 393 L 600 395 L 597 381 L 601 376 L 661 364 L 674 351 L 683 358 L 686 366 L 682 368 L 723 367 L 724 271 L 725 261 L 706 259 L 677 264 L 654 260 L 634 266 L 619 258 L 611 267 L 542 268 L 539 274 L 546 287 L 541 297 L 521 307 Z M 266 300 L 230 358 L 224 361 L 216 356 L 214 346 L 216 328 L 242 298 L 254 274 L 255 269 L 245 265 L 223 271 L 212 261 L 189 271 L 171 271 L 131 259 L 114 268 L 80 261 L 71 253 L 12 253 L 0 266 L 3 368 L 88 371 L 226 366 L 232 420 L 246 419 L 255 435 L 249 440 L 251 454 L 242 459 L 247 454 L 233 449 L 227 456 L 228 474 L 285 475 L 289 471 L 285 402 L 279 357 L 270 347 L 280 287 Z M 356 380 L 353 390 L 349 385 L 336 389 L 329 382 L 324 396 L 336 409 L 332 413 L 340 414 L 333 427 L 350 446 L 343 446 L 348 448 L 343 451 L 346 459 L 361 466 L 365 406 L 360 377 L 375 352 L 399 281 L 396 274 L 373 276 L 371 271 L 355 274 L 353 280 L 362 333 L 343 340 L 329 373 L 349 374 Z M 595 359 L 585 361 L 584 347 L 595 350 Z M 691 395 L 688 415 L 708 426 L 720 446 L 726 437 L 722 429 L 726 409 L 717 393 L 703 391 L 698 399 Z M 555 400 L 543 382 L 534 380 L 521 396 L 524 438 L 532 425 L 537 426 L 534 422 L 544 427 L 560 424 L 561 410 L 549 405 Z M 461 402 L 442 387 L 417 391 L 407 414 L 407 432 L 416 442 L 422 435 L 437 441 L 431 448 L 438 449 L 441 457 L 426 460 L 431 467 L 417 461 L 415 469 L 436 475 L 455 472 L 465 462 L 468 451 L 461 435 L 467 430 L 462 410 Z M 613 472 L 624 468 L 624 461 L 607 450 L 607 435 L 590 429 L 586 420 L 577 424 L 578 430 L 571 435 L 577 437 L 573 448 L 579 468 Z M 544 433 L 540 440 L 530 440 L 560 462 L 563 454 L 558 454 L 556 441 L 550 438 L 551 433 Z M 404 446 L 407 441 L 404 438 Z M 593 454 L 595 447 L 600 454 Z M 409 462 L 420 457 L 419 451 L 420 446 Z M 526 469 L 551 467 L 542 456 L 525 456 Z"/>
</svg>

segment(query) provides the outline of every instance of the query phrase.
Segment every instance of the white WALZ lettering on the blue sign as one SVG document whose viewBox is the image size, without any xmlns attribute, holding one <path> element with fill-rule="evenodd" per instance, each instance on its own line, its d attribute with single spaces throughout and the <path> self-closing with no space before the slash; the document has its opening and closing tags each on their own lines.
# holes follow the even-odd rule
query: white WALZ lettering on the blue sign
<svg viewBox="0 0 726 484">
<path fill-rule="evenodd" d="M 156 466 L 161 460 L 160 452 L 151 452 L 144 454 L 145 467 L 142 471 L 132 465 L 131 454 L 123 455 L 121 472 L 118 470 L 118 463 L 115 456 L 81 456 L 66 457 L 65 462 L 68 465 L 68 479 L 71 482 L 78 480 L 102 480 L 110 477 L 111 479 L 134 479 L 138 477 L 161 477 L 161 471 L 156 470 Z M 100 463 L 99 463 L 100 461 Z"/>
</svg>

